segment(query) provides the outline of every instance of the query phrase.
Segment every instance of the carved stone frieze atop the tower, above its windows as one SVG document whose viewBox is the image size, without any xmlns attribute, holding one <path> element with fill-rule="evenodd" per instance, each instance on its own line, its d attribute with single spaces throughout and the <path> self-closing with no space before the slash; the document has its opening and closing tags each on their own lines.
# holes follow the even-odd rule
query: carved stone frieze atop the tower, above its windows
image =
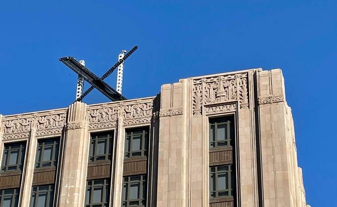
<svg viewBox="0 0 337 207">
<path fill-rule="evenodd" d="M 247 73 L 193 80 L 193 115 L 201 114 L 205 104 L 239 101 L 240 109 L 248 105 Z"/>
</svg>

